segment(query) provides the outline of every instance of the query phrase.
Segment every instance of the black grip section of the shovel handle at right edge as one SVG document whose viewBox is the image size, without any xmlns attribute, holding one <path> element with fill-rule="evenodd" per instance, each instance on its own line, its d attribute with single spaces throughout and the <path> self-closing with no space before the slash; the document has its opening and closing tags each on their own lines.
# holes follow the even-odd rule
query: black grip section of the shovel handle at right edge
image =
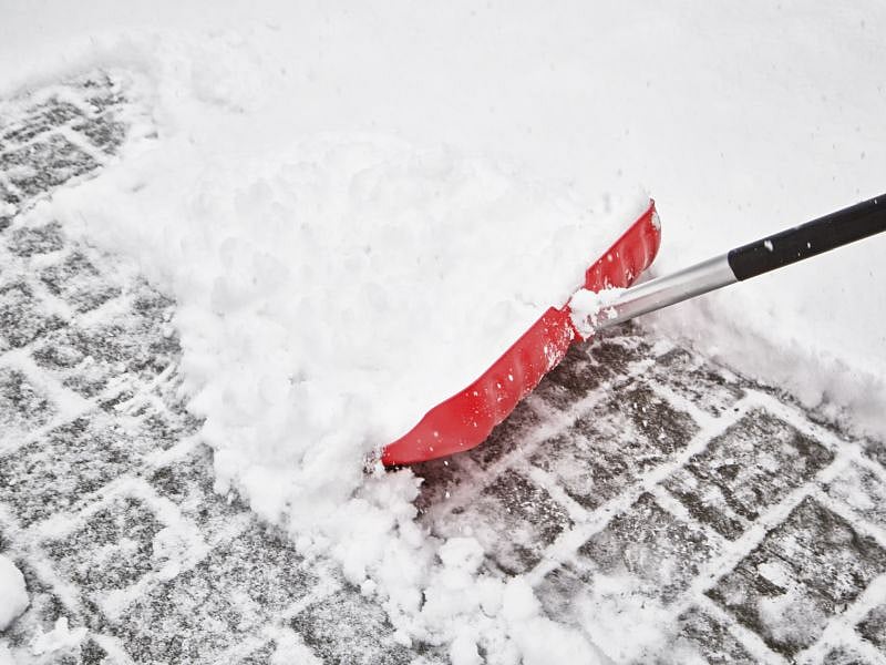
<svg viewBox="0 0 886 665">
<path fill-rule="evenodd" d="M 736 247 L 729 267 L 741 282 L 884 231 L 886 194 Z"/>
</svg>

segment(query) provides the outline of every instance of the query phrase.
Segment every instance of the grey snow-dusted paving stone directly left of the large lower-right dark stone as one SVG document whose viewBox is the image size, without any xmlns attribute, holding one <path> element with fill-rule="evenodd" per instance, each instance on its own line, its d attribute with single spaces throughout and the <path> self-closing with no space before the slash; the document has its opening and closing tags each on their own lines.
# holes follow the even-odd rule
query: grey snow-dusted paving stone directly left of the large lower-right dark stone
<svg viewBox="0 0 886 665">
<path fill-rule="evenodd" d="M 578 550 L 591 572 L 635 577 L 666 604 L 713 553 L 703 531 L 663 510 L 648 493 Z"/>
</svg>

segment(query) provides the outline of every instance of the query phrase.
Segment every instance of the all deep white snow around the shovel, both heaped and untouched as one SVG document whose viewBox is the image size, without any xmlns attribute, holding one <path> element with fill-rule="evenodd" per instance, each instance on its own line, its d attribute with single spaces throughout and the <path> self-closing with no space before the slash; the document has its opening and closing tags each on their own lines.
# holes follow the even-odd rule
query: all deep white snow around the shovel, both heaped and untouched
<svg viewBox="0 0 886 665">
<path fill-rule="evenodd" d="M 524 635 L 593 652 L 524 580 L 485 577 L 476 539 L 424 533 L 415 478 L 364 474 L 364 453 L 559 304 L 639 187 L 663 272 L 879 194 L 886 173 L 876 2 L 48 2 L 3 19 L 7 93 L 97 65 L 134 109 L 121 158 L 20 223 L 60 221 L 171 293 L 216 489 L 334 557 L 400 641 L 465 663 L 477 644 L 529 658 Z M 650 330 L 883 436 L 884 249 Z"/>
</svg>

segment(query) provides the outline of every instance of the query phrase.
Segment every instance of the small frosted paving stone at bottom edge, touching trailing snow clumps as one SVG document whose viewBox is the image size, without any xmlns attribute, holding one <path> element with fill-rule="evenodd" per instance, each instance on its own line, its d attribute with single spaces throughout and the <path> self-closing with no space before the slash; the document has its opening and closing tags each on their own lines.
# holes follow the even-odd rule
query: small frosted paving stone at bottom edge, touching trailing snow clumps
<svg viewBox="0 0 886 665">
<path fill-rule="evenodd" d="M 353 589 L 308 606 L 290 625 L 323 663 L 405 665 L 414 657 L 391 638 L 384 611 Z"/>
</svg>

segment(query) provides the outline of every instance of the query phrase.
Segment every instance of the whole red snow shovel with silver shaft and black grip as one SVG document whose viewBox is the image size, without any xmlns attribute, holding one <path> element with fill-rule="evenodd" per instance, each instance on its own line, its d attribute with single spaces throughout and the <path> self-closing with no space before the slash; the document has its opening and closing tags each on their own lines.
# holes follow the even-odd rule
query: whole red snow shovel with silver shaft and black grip
<svg viewBox="0 0 886 665">
<path fill-rule="evenodd" d="M 822 254 L 886 231 L 886 195 L 736 247 L 673 275 L 628 288 L 602 311 L 588 313 L 591 330 L 605 329 L 701 294 Z M 586 273 L 585 289 L 629 286 L 660 245 L 655 203 Z M 583 335 L 569 304 L 552 307 L 483 376 L 431 409 L 382 451 L 385 466 L 410 464 L 470 450 L 513 411 Z"/>
</svg>

